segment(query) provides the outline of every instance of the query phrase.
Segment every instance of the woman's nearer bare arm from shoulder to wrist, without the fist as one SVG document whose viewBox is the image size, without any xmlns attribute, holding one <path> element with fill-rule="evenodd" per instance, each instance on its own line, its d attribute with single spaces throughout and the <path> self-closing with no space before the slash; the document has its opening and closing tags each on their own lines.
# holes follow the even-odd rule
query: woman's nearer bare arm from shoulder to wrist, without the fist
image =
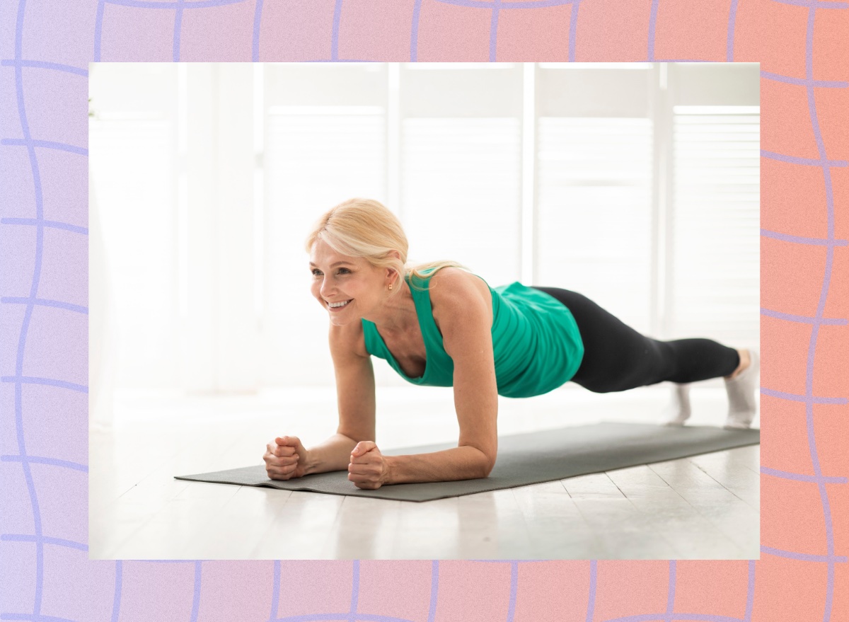
<svg viewBox="0 0 849 622">
<path fill-rule="evenodd" d="M 430 454 L 385 456 L 385 483 L 486 478 L 495 465 L 498 386 L 492 353 L 492 309 L 465 273 L 440 272 L 434 280 L 437 278 L 440 285 L 432 291 L 431 301 L 436 299 L 443 345 L 454 362 L 458 447 Z"/>
</svg>

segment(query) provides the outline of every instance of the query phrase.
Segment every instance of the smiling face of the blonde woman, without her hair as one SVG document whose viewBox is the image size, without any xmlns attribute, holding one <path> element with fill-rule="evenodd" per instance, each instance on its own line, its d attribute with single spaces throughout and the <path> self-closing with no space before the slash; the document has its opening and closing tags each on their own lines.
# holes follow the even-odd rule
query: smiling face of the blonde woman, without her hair
<svg viewBox="0 0 849 622">
<path fill-rule="evenodd" d="M 387 288 L 385 269 L 375 268 L 363 257 L 340 255 L 323 240 L 312 245 L 310 273 L 312 296 L 327 310 L 334 324 L 373 315 L 383 303 Z"/>
</svg>

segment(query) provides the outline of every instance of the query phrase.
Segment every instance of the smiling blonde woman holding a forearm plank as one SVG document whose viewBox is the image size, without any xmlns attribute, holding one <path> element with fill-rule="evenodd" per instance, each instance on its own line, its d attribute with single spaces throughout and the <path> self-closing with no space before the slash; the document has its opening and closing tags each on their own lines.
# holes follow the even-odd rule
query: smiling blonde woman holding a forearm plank
<svg viewBox="0 0 849 622">
<path fill-rule="evenodd" d="M 378 201 L 352 199 L 318 219 L 306 240 L 312 295 L 330 319 L 337 433 L 306 450 L 293 436 L 267 444 L 272 479 L 348 470 L 361 489 L 486 478 L 498 450 L 498 394 L 530 397 L 572 381 L 596 393 L 676 382 L 681 425 L 687 383 L 723 376 L 726 427 L 755 415 L 757 354 L 708 339 L 640 335 L 581 294 L 520 283 L 493 290 L 458 263 L 406 267 L 401 223 Z M 371 356 L 408 382 L 453 386 L 458 446 L 385 456 L 374 443 Z"/>
</svg>

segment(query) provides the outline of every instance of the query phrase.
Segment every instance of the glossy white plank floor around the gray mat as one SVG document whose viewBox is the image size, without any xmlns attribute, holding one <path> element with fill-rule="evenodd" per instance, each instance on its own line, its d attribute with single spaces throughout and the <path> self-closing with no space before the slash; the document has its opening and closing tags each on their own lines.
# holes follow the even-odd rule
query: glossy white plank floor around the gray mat
<svg viewBox="0 0 849 622">
<path fill-rule="evenodd" d="M 499 433 L 662 418 L 668 386 L 568 386 L 503 399 Z M 696 386 L 693 423 L 722 425 L 722 386 Z M 755 421 L 758 426 L 758 421 Z M 184 399 L 124 394 L 91 431 L 93 559 L 577 559 L 759 557 L 757 446 L 424 503 L 187 482 L 261 464 L 280 434 L 335 431 L 333 389 Z M 450 389 L 378 394 L 386 449 L 456 440 Z"/>
</svg>

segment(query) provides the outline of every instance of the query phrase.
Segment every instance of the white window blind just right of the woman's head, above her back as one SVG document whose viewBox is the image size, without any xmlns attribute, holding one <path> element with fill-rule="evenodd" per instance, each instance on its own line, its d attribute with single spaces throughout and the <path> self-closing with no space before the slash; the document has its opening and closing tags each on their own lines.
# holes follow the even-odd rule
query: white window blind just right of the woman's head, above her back
<svg viewBox="0 0 849 622">
<path fill-rule="evenodd" d="M 519 279 L 520 120 L 402 122 L 402 221 L 411 259 L 453 259 L 491 286 Z"/>
</svg>

